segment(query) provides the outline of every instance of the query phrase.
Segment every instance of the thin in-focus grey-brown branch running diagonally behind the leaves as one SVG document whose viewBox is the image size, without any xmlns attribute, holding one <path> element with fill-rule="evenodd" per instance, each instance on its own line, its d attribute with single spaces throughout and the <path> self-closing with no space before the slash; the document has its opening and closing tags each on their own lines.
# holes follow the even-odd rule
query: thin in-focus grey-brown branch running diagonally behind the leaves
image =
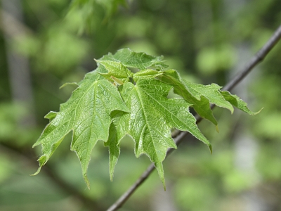
<svg viewBox="0 0 281 211">
<path fill-rule="evenodd" d="M 244 79 L 244 77 L 246 77 L 257 64 L 259 64 L 264 58 L 266 58 L 268 53 L 273 49 L 273 47 L 277 44 L 277 42 L 280 39 L 281 39 L 281 25 L 280 27 L 277 28 L 273 36 L 270 37 L 270 39 L 263 46 L 263 48 L 258 53 L 256 53 L 256 55 L 253 58 L 251 58 L 247 66 L 243 70 L 241 70 L 240 73 L 236 75 L 236 77 L 231 79 L 230 82 L 228 82 L 228 84 L 226 84 L 225 87 L 223 87 L 223 90 L 230 91 L 231 89 L 233 89 L 233 87 L 239 84 L 241 80 Z M 214 108 L 214 105 L 212 105 L 211 108 Z M 199 122 L 201 122 L 202 117 L 199 117 L 197 115 L 196 119 L 198 124 Z M 177 146 L 181 143 L 181 141 L 183 141 L 183 137 L 186 136 L 187 134 L 188 132 L 181 132 L 180 134 L 178 134 L 178 136 L 174 138 L 174 141 L 176 142 Z M 169 148 L 166 155 L 168 156 L 169 154 L 171 154 L 172 151 L 174 151 L 174 149 Z M 118 210 L 120 207 L 122 207 L 122 205 L 124 205 L 126 200 L 128 200 L 131 197 L 131 195 L 134 193 L 134 191 L 136 191 L 138 186 L 141 186 L 141 184 L 143 184 L 143 182 L 146 179 L 148 179 L 148 177 L 153 172 L 153 170 L 155 170 L 155 166 L 152 164 L 148 167 L 147 170 L 145 170 L 145 172 L 143 172 L 141 177 L 139 177 L 138 180 L 110 208 L 107 209 L 107 211 L 115 211 Z"/>
</svg>

